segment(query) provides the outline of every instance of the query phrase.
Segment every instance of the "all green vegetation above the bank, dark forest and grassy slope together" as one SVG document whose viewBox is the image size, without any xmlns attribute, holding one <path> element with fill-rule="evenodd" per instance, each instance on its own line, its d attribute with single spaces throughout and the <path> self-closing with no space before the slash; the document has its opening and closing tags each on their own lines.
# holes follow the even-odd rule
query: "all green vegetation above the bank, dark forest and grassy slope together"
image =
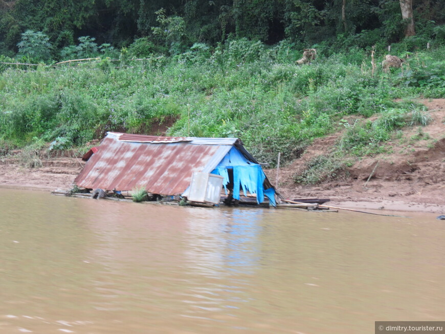
<svg viewBox="0 0 445 334">
<path fill-rule="evenodd" d="M 342 16 L 338 1 L 0 0 L 0 144 L 69 148 L 164 124 L 168 135 L 239 137 L 274 165 L 279 151 L 290 161 L 344 129 L 337 152 L 314 161 L 334 173 L 344 152 L 374 154 L 427 124 L 409 98 L 445 95 L 443 2 L 418 2 L 405 38 L 397 1 L 343 5 Z M 406 62 L 385 73 L 389 43 Z M 317 58 L 297 65 L 309 46 Z"/>
</svg>

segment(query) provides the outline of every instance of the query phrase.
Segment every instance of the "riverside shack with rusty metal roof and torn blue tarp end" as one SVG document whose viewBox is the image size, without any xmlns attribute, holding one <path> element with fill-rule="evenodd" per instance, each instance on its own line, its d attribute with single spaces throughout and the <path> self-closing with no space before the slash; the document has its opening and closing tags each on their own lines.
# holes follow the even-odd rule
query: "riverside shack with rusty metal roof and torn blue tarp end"
<svg viewBox="0 0 445 334">
<path fill-rule="evenodd" d="M 82 188 L 114 191 L 144 188 L 152 194 L 188 197 L 194 175 L 204 173 L 218 175 L 222 181 L 219 194 L 222 185 L 234 199 L 240 199 L 242 190 L 244 196 L 255 196 L 258 204 L 266 196 L 276 205 L 274 187 L 237 138 L 108 132 L 100 145 L 85 153 L 83 159 L 86 164 L 74 180 Z"/>
</svg>

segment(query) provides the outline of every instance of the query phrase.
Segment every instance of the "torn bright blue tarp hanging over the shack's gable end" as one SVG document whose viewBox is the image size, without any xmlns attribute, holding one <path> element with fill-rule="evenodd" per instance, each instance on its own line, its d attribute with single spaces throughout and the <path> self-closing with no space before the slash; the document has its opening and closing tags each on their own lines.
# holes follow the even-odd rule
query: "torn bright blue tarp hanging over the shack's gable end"
<svg viewBox="0 0 445 334">
<path fill-rule="evenodd" d="M 235 147 L 232 147 L 225 157 L 220 161 L 212 174 L 220 175 L 224 179 L 222 184 L 226 189 L 229 184 L 228 169 L 233 169 L 233 198 L 239 199 L 239 193 L 242 188 L 244 196 L 248 192 L 256 194 L 257 203 L 264 201 L 264 195 L 269 198 L 270 203 L 275 206 L 275 189 L 264 190 L 263 182 L 265 174 L 260 165 L 250 162 Z"/>
</svg>

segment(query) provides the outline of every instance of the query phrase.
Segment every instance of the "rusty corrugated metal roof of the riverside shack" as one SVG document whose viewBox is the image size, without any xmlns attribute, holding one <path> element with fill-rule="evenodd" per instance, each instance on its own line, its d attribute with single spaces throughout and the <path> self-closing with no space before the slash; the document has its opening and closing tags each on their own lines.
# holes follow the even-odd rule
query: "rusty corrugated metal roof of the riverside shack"
<svg viewBox="0 0 445 334">
<path fill-rule="evenodd" d="M 180 195 L 195 171 L 210 172 L 236 138 L 184 138 L 109 132 L 74 183 L 84 188 Z M 238 144 L 240 145 L 240 144 Z"/>
</svg>

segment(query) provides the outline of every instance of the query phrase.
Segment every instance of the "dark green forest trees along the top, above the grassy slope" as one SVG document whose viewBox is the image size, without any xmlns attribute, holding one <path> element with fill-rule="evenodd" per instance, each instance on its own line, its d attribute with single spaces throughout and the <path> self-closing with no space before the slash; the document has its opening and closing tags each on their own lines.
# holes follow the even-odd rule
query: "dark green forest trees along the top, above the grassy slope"
<svg viewBox="0 0 445 334">
<path fill-rule="evenodd" d="M 171 55 L 228 38 L 386 47 L 407 36 L 440 40 L 444 23 L 442 0 L 0 0 L 0 54 L 33 58 L 26 48 L 43 44 L 38 61 L 130 46 L 141 56 Z"/>
</svg>

